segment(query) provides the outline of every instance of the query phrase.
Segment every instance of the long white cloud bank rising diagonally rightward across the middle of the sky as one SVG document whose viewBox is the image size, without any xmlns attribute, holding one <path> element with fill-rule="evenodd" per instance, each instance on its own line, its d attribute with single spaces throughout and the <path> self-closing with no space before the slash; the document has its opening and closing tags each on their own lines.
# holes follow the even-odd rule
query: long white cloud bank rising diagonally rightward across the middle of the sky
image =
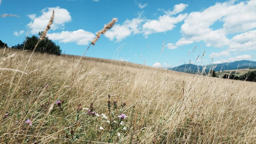
<svg viewBox="0 0 256 144">
<path fill-rule="evenodd" d="M 141 6 L 145 7 L 146 5 Z M 105 33 L 105 36 L 110 40 L 119 42 L 133 34 L 143 34 L 147 38 L 152 33 L 172 30 L 175 24 L 183 21 L 188 16 L 187 13 L 179 14 L 178 16 L 174 15 L 182 12 L 187 6 L 187 4 L 177 4 L 173 7 L 173 11 L 165 11 L 165 14 L 159 16 L 157 20 L 148 20 L 141 17 L 125 20 L 122 24 L 114 25 L 113 28 Z"/>
</svg>

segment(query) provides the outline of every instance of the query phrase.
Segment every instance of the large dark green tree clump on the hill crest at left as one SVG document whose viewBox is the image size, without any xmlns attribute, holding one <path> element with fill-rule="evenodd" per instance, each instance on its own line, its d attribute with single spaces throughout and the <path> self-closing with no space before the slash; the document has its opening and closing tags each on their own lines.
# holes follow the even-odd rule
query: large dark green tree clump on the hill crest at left
<svg viewBox="0 0 256 144">
<path fill-rule="evenodd" d="M 43 32 L 39 32 L 38 36 L 41 36 Z M 27 40 L 24 40 L 21 44 L 16 44 L 12 46 L 15 49 L 24 49 L 24 50 L 33 50 L 36 46 L 36 43 L 39 39 L 38 36 L 28 37 Z M 49 39 L 48 36 L 45 37 L 44 41 L 41 41 L 36 47 L 36 52 L 45 52 L 50 54 L 61 54 L 60 46 L 56 45 L 52 40 Z"/>
</svg>

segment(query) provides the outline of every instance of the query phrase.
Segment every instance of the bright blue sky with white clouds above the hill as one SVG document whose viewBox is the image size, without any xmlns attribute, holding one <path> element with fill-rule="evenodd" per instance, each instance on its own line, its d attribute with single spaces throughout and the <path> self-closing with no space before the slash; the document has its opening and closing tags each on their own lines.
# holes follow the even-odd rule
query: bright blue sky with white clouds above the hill
<svg viewBox="0 0 256 144">
<path fill-rule="evenodd" d="M 155 67 L 256 61 L 256 0 L 0 0 L 0 40 L 22 43 L 31 24 L 29 36 L 37 35 L 52 10 L 48 36 L 65 54 L 82 55 L 95 32 L 117 18 L 86 56 Z"/>
</svg>

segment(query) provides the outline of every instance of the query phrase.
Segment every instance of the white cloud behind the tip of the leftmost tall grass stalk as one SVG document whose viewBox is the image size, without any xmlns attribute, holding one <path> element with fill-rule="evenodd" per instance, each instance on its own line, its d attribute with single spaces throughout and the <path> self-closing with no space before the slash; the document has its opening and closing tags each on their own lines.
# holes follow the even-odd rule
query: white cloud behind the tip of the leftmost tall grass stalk
<svg viewBox="0 0 256 144">
<path fill-rule="evenodd" d="M 33 21 L 28 24 L 31 26 L 31 33 L 37 34 L 39 31 L 44 31 L 46 28 L 51 16 L 52 11 L 54 10 L 54 20 L 51 25 L 51 30 L 56 30 L 63 28 L 66 22 L 71 21 L 71 16 L 68 10 L 60 8 L 60 7 L 48 7 L 44 8 L 41 12 L 42 15 L 36 17 L 36 14 L 29 14 L 28 17 Z"/>
</svg>

